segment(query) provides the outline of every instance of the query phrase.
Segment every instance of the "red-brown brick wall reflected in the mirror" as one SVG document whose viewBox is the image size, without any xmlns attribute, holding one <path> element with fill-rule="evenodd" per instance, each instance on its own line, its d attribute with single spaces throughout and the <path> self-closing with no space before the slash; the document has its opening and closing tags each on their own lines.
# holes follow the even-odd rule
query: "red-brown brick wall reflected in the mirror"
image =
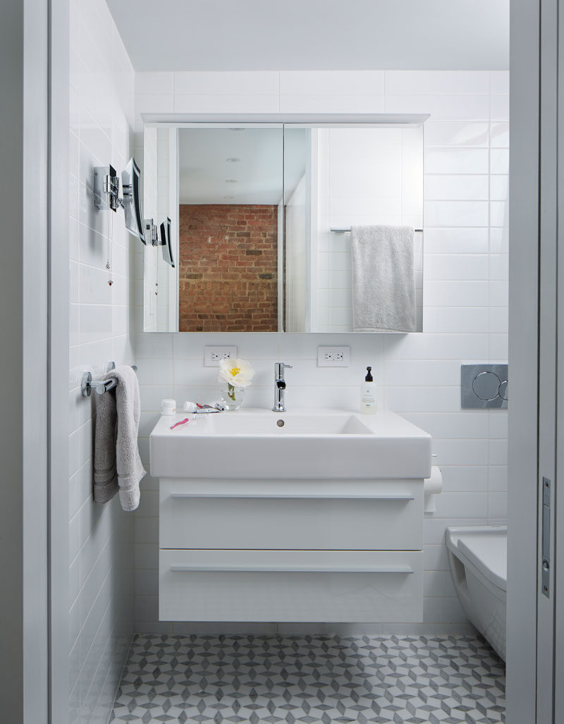
<svg viewBox="0 0 564 724">
<path fill-rule="evenodd" d="M 180 205 L 180 332 L 276 332 L 277 206 Z"/>
</svg>

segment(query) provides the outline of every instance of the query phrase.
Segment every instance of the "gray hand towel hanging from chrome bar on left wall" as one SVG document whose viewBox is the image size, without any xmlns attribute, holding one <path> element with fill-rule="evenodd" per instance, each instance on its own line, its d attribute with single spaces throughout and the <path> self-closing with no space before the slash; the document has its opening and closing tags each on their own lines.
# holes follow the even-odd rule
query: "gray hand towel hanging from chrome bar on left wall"
<svg viewBox="0 0 564 724">
<path fill-rule="evenodd" d="M 139 384 L 128 365 L 112 370 L 108 378 L 116 379 L 117 387 L 96 395 L 94 500 L 108 502 L 119 489 L 119 502 L 130 511 L 139 505 L 139 481 L 146 475 L 137 442 Z"/>
</svg>

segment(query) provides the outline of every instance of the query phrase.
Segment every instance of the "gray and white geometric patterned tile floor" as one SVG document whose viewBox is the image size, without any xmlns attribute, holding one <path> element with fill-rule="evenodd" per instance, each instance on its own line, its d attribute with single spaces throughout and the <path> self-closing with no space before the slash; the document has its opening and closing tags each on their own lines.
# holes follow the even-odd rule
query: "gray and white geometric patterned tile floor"
<svg viewBox="0 0 564 724">
<path fill-rule="evenodd" d="M 505 721 L 505 668 L 478 636 L 135 636 L 110 721 Z"/>
</svg>

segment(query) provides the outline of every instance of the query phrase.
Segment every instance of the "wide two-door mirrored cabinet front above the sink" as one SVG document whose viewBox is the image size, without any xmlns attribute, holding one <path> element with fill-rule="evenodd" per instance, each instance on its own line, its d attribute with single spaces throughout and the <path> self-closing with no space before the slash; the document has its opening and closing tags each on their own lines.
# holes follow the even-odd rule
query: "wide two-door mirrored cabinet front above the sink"
<svg viewBox="0 0 564 724">
<path fill-rule="evenodd" d="M 421 122 L 147 124 L 143 177 L 145 331 L 422 331 Z"/>
</svg>

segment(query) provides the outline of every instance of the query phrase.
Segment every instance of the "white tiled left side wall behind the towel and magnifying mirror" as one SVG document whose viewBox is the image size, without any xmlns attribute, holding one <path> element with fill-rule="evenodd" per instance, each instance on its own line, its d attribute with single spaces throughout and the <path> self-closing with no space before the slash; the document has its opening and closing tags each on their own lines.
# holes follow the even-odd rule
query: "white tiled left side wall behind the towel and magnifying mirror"
<svg viewBox="0 0 564 724">
<path fill-rule="evenodd" d="M 93 503 L 95 395 L 79 385 L 85 369 L 133 361 L 134 243 L 121 212 L 108 231 L 92 179 L 130 156 L 135 73 L 104 0 L 73 0 L 70 28 L 69 721 L 83 724 L 108 720 L 133 632 L 135 518 L 115 498 Z"/>
</svg>

